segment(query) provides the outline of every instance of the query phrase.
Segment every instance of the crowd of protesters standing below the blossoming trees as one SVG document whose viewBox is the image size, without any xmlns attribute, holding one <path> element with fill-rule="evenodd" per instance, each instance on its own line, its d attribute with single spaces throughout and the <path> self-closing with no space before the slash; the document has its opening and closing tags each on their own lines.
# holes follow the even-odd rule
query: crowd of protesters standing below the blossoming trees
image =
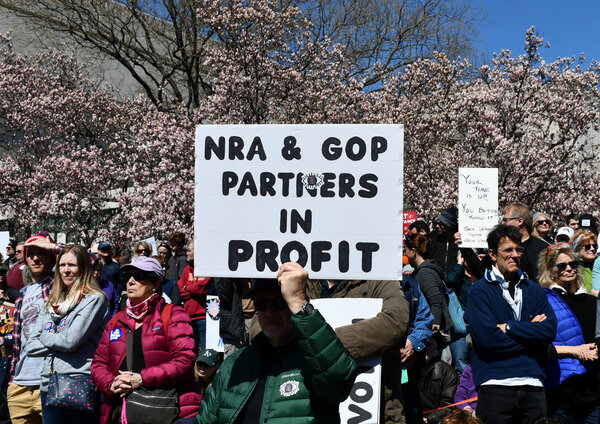
<svg viewBox="0 0 600 424">
<path fill-rule="evenodd" d="M 401 281 L 313 280 L 296 263 L 196 277 L 183 233 L 130 257 L 11 241 L 0 422 L 335 423 L 358 364 L 380 357 L 382 423 L 598 424 L 598 229 L 591 214 L 555 227 L 512 203 L 487 248 L 464 248 L 450 207 L 409 226 Z M 208 295 L 223 353 L 206 348 Z M 334 330 L 319 298 L 383 302 Z"/>
</svg>

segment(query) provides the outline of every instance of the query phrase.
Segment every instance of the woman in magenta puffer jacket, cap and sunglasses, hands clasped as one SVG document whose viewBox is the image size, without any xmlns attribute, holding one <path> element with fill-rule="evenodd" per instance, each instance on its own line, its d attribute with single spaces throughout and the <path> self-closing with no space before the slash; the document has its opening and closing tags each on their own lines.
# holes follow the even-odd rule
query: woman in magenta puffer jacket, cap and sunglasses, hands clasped
<svg viewBox="0 0 600 424">
<path fill-rule="evenodd" d="M 129 274 L 127 308 L 107 324 L 92 363 L 92 378 L 102 394 L 100 422 L 118 422 L 121 399 L 142 386 L 176 387 L 179 416 L 194 416 L 202 397 L 193 380 L 196 356 L 190 318 L 173 306 L 167 323 L 163 322 L 163 270 L 156 259 L 138 257 L 123 271 Z M 132 371 L 126 365 L 128 331 L 133 333 Z"/>
</svg>

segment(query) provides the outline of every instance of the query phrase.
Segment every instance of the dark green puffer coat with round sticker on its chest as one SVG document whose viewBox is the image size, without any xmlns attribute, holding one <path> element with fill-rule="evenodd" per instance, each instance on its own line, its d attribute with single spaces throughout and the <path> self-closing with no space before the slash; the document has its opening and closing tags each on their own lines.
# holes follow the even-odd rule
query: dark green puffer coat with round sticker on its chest
<svg viewBox="0 0 600 424">
<path fill-rule="evenodd" d="M 292 315 L 295 340 L 279 349 L 267 373 L 261 423 L 339 423 L 339 403 L 348 397 L 358 366 L 319 311 Z M 233 423 L 250 399 L 267 338 L 223 363 L 196 418 L 199 424 Z"/>
</svg>

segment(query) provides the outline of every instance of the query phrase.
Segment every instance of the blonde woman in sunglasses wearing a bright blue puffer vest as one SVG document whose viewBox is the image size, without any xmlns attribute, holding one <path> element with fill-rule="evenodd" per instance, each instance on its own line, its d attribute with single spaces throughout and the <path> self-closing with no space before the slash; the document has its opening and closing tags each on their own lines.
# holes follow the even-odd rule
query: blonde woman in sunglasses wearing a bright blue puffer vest
<svg viewBox="0 0 600 424">
<path fill-rule="evenodd" d="M 548 411 L 569 422 L 598 423 L 600 387 L 594 343 L 596 298 L 587 294 L 579 262 L 568 243 L 540 254 L 539 280 L 556 314 L 556 337 L 546 366 Z"/>
</svg>

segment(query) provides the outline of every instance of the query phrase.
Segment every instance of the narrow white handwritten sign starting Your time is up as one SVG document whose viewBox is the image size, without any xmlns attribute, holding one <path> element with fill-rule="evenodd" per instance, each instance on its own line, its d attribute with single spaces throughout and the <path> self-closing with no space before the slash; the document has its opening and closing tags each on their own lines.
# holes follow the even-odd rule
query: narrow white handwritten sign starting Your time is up
<svg viewBox="0 0 600 424">
<path fill-rule="evenodd" d="M 458 169 L 458 231 L 461 247 L 487 247 L 498 224 L 498 168 Z"/>
</svg>

